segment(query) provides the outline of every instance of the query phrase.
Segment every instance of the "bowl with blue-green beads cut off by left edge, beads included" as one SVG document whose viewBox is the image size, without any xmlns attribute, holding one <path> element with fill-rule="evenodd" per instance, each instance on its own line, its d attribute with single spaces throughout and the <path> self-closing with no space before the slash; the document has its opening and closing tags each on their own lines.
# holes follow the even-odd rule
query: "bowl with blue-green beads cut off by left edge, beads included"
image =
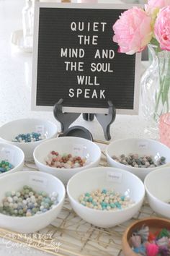
<svg viewBox="0 0 170 256">
<path fill-rule="evenodd" d="M 22 171 L 23 166 L 23 151 L 14 145 L 0 142 L 0 177 Z"/>
</svg>

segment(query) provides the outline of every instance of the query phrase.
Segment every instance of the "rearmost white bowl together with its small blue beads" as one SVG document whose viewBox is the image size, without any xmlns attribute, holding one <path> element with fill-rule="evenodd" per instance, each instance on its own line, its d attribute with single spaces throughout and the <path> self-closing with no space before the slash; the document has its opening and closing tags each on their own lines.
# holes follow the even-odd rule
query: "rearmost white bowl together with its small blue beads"
<svg viewBox="0 0 170 256">
<path fill-rule="evenodd" d="M 42 141 L 56 137 L 57 126 L 43 119 L 17 119 L 0 127 L 0 140 L 16 145 L 25 161 L 33 161 L 33 151 Z"/>
</svg>

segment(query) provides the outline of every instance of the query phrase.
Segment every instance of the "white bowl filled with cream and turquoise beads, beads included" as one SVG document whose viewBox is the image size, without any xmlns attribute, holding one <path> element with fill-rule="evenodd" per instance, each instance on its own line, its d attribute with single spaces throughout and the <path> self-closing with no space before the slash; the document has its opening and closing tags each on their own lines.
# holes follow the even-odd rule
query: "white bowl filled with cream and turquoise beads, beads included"
<svg viewBox="0 0 170 256">
<path fill-rule="evenodd" d="M 67 193 L 78 216 L 94 226 L 109 228 L 138 213 L 145 187 L 128 171 L 96 167 L 74 175 L 68 182 Z"/>
</svg>

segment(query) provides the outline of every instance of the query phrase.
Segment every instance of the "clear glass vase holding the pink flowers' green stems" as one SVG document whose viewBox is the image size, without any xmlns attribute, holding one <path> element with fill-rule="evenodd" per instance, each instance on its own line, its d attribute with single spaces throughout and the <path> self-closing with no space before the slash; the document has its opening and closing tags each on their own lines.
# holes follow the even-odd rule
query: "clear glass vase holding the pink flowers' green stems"
<svg viewBox="0 0 170 256">
<path fill-rule="evenodd" d="M 158 139 L 160 116 L 170 111 L 170 51 L 149 45 L 151 65 L 141 77 L 142 112 L 148 120 L 146 133 Z"/>
</svg>

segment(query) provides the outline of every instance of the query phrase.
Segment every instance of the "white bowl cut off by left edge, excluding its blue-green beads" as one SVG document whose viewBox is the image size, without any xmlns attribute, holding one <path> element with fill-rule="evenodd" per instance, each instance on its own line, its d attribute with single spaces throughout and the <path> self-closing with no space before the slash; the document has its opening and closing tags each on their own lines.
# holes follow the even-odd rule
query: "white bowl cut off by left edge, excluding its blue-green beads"
<svg viewBox="0 0 170 256">
<path fill-rule="evenodd" d="M 12 163 L 14 168 L 9 171 L 0 174 L 0 178 L 6 174 L 12 174 L 16 171 L 22 171 L 24 166 L 24 153 L 23 151 L 14 146 L 7 143 L 0 142 L 0 160 L 6 160 L 9 163 Z"/>
</svg>

